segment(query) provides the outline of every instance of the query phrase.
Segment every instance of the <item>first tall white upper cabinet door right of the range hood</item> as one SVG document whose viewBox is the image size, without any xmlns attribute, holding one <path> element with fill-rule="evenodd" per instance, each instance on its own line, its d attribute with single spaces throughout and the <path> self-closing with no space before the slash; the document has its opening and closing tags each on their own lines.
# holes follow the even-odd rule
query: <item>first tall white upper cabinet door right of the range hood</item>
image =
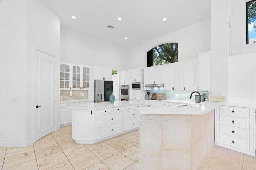
<svg viewBox="0 0 256 170">
<path fill-rule="evenodd" d="M 164 66 L 164 90 L 172 90 L 173 87 L 173 67 L 171 64 Z"/>
</svg>

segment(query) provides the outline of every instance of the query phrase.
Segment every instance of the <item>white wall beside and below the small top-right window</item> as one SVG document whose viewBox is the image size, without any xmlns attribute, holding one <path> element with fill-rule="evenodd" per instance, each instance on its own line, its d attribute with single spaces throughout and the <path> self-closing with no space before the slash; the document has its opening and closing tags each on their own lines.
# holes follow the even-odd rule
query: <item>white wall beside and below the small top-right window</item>
<svg viewBox="0 0 256 170">
<path fill-rule="evenodd" d="M 246 1 L 231 0 L 232 55 L 256 52 L 256 43 L 246 44 Z"/>
</svg>

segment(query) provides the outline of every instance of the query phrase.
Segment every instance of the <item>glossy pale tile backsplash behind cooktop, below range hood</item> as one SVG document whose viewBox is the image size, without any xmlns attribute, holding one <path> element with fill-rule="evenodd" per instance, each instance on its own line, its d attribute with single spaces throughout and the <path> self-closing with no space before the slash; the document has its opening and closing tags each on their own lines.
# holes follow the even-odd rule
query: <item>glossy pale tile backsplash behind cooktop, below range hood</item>
<svg viewBox="0 0 256 170">
<path fill-rule="evenodd" d="M 190 99 L 190 94 L 193 91 L 187 91 L 187 90 L 164 90 L 164 87 L 151 87 L 149 98 L 152 97 L 153 93 L 165 93 L 166 94 L 166 100 L 178 100 L 178 101 L 195 101 L 195 95 L 197 93 L 194 93 L 192 95 L 192 98 Z M 198 91 L 198 90 L 197 90 Z M 205 99 L 208 99 L 208 91 L 198 91 L 201 95 L 205 94 Z"/>
</svg>

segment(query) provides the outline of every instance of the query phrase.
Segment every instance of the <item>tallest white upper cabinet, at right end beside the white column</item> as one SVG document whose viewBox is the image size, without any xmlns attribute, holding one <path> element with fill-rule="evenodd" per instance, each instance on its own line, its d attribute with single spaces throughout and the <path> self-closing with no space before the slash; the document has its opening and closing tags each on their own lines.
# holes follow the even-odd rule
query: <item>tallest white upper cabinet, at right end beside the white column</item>
<svg viewBox="0 0 256 170">
<path fill-rule="evenodd" d="M 195 60 L 196 90 L 210 90 L 211 84 L 211 52 L 198 54 Z"/>
</svg>

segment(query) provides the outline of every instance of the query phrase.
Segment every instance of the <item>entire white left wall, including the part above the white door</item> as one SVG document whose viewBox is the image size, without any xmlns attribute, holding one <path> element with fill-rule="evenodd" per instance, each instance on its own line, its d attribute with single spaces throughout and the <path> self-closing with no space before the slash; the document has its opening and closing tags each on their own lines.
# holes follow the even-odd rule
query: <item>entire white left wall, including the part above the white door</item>
<svg viewBox="0 0 256 170">
<path fill-rule="evenodd" d="M 32 45 L 58 55 L 60 19 L 39 0 L 4 0 L 0 21 L 0 146 L 25 147 L 33 135 Z"/>
</svg>

